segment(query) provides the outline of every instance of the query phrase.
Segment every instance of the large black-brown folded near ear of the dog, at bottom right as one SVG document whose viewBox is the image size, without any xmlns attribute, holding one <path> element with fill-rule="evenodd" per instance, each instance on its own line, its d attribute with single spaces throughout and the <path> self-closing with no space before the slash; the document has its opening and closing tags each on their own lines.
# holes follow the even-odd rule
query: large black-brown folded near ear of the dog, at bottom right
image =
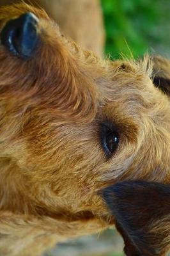
<svg viewBox="0 0 170 256">
<path fill-rule="evenodd" d="M 120 182 L 103 197 L 116 219 L 128 256 L 164 255 L 170 249 L 170 186 Z"/>
</svg>

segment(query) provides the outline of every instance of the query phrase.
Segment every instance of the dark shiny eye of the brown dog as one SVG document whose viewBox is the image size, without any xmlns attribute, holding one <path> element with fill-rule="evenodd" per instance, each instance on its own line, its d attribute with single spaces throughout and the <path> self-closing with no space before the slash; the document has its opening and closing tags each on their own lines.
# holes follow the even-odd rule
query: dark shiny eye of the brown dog
<svg viewBox="0 0 170 256">
<path fill-rule="evenodd" d="M 102 148 L 107 157 L 111 157 L 118 148 L 120 136 L 115 127 L 111 124 L 102 124 L 100 138 L 102 141 Z"/>
</svg>

